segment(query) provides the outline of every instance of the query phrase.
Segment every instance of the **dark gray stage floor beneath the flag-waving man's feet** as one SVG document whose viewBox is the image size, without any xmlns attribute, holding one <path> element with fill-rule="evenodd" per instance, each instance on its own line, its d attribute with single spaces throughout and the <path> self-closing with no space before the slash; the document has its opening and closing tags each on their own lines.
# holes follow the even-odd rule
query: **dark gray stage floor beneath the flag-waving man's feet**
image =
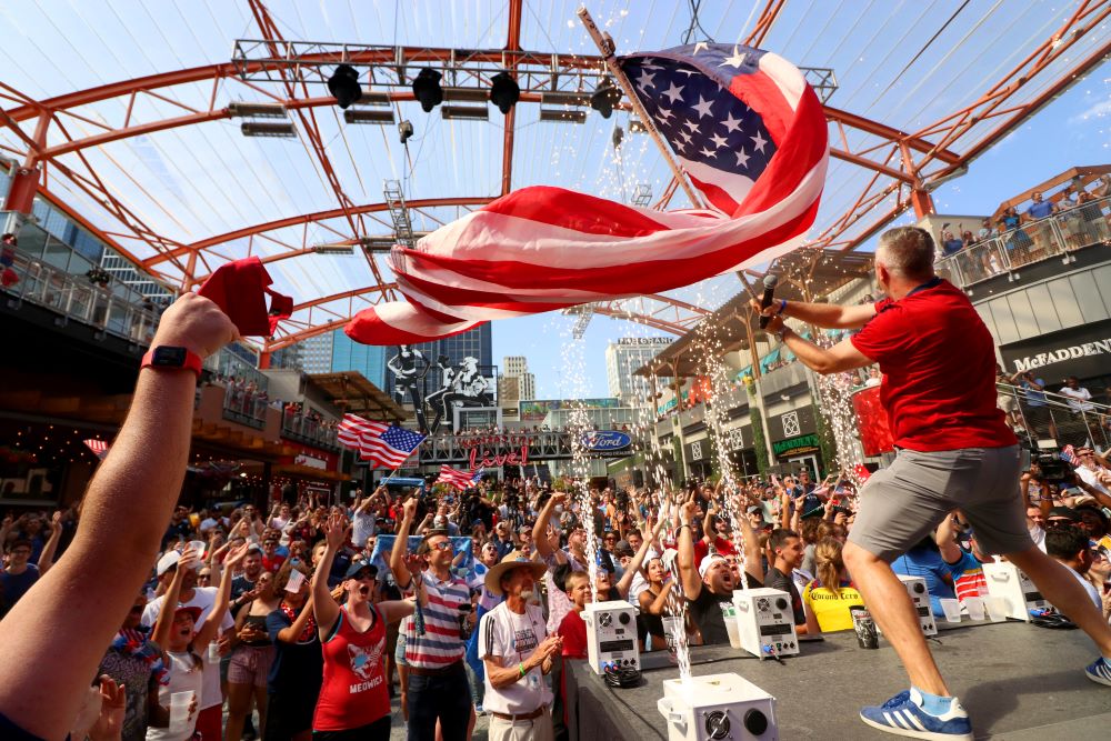
<svg viewBox="0 0 1111 741">
<path fill-rule="evenodd" d="M 1084 675 L 1097 652 L 1081 631 L 1021 622 L 939 627 L 939 640 L 930 641 L 933 655 L 978 739 L 1107 738 L 1111 688 Z M 774 695 L 781 739 L 891 738 L 858 718 L 861 705 L 879 704 L 907 687 L 902 664 L 882 638 L 879 650 L 867 651 L 851 631 L 828 634 L 783 664 L 744 657 L 728 645 L 697 648 L 692 673 L 738 673 Z M 572 672 L 581 741 L 668 738 L 655 701 L 662 681 L 678 677 L 674 668 L 645 670 L 644 684 L 628 690 L 607 688 L 583 664 Z"/>
</svg>

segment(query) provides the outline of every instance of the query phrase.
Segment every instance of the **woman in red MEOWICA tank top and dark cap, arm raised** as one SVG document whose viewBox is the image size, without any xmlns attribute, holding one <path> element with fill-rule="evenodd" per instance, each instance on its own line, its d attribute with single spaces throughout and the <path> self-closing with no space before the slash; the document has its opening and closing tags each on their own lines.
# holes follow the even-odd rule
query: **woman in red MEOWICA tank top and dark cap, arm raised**
<svg viewBox="0 0 1111 741">
<path fill-rule="evenodd" d="M 332 514 L 324 530 L 327 549 L 312 577 L 312 611 L 320 631 L 324 678 L 312 718 L 313 739 L 390 738 L 390 695 L 383 653 L 386 625 L 413 612 L 413 601 L 371 603 L 373 569 L 356 561 L 343 579 L 346 604 L 340 607 L 328 589 L 328 573 L 336 553 L 348 538 L 348 522 Z M 419 558 L 419 557 L 414 557 Z M 410 564 L 413 573 L 420 567 Z M 419 592 L 423 600 L 423 590 Z"/>
</svg>

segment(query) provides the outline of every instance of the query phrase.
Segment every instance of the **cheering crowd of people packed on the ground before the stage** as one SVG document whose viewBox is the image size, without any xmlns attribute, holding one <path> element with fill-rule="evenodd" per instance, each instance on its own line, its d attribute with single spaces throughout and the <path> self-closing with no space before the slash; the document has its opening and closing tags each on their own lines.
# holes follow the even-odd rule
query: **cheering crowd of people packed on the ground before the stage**
<svg viewBox="0 0 1111 741">
<path fill-rule="evenodd" d="M 1091 449 L 1061 463 L 1023 474 L 1028 527 L 1111 615 L 1111 463 Z M 851 630 L 850 608 L 865 604 L 842 558 L 857 511 L 844 477 L 585 491 L 491 479 L 408 499 L 383 485 L 347 507 L 177 507 L 97 672 L 124 688 L 121 738 L 384 739 L 398 693 L 411 739 L 468 738 L 479 714 L 491 738 L 562 738 L 559 675 L 585 658 L 591 550 L 597 599 L 640 608 L 641 651 L 667 650 L 672 614 L 690 644 L 725 642 L 720 607 L 742 585 L 788 592 L 799 634 Z M 64 558 L 62 518 L 3 521 L 4 612 Z M 987 595 L 985 560 L 954 512 L 893 567 L 927 579 L 941 618 L 942 599 Z M 190 693 L 184 720 L 178 693 Z"/>
</svg>

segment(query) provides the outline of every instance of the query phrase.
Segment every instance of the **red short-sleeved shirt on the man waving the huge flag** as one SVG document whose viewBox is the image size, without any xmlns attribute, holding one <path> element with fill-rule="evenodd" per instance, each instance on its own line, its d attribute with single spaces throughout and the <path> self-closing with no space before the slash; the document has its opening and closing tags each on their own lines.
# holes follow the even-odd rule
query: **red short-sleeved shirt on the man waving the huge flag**
<svg viewBox="0 0 1111 741">
<path fill-rule="evenodd" d="M 917 451 L 1018 443 L 995 407 L 991 333 L 964 292 L 945 280 L 884 299 L 852 344 L 880 364 L 880 401 L 895 445 Z"/>
</svg>

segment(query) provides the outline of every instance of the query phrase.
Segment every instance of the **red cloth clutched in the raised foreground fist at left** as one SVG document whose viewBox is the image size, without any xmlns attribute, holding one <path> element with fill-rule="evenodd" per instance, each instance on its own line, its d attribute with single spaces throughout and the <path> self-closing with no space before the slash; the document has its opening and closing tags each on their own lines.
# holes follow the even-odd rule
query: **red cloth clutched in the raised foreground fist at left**
<svg viewBox="0 0 1111 741">
<path fill-rule="evenodd" d="M 241 336 L 270 337 L 278 322 L 293 313 L 293 299 L 272 290 L 271 283 L 273 279 L 262 261 L 252 257 L 220 266 L 197 292 L 214 301 Z"/>
</svg>

